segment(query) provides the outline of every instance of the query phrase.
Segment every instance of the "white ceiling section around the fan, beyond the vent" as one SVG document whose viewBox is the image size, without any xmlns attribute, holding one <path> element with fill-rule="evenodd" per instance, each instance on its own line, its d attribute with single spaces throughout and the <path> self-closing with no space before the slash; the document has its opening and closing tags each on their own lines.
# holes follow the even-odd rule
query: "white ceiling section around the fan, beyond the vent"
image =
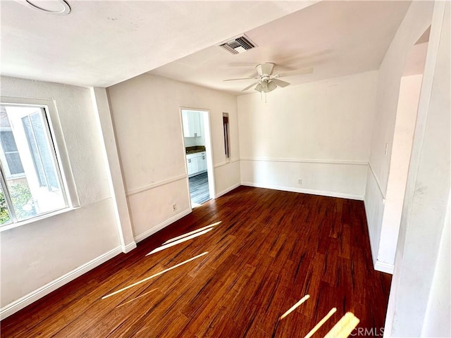
<svg viewBox="0 0 451 338">
<path fill-rule="evenodd" d="M 409 4 L 410 1 L 321 1 L 243 31 L 258 45 L 255 49 L 233 55 L 218 46 L 209 46 L 149 73 L 246 94 L 254 90 L 243 93 L 241 89 L 253 80 L 223 80 L 255 76 L 254 66 L 262 62 L 292 69 L 314 67 L 314 73 L 309 75 L 283 77 L 291 84 L 376 70 Z M 274 73 L 286 70 L 276 67 Z"/>
</svg>

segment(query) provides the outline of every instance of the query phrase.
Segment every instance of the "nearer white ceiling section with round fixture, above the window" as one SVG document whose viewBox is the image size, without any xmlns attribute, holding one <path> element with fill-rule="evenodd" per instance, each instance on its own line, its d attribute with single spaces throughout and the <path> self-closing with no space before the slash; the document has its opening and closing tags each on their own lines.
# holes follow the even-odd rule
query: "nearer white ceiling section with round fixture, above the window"
<svg viewBox="0 0 451 338">
<path fill-rule="evenodd" d="M 316 2 L 67 1 L 51 15 L 1 0 L 2 75 L 108 87 Z"/>
</svg>

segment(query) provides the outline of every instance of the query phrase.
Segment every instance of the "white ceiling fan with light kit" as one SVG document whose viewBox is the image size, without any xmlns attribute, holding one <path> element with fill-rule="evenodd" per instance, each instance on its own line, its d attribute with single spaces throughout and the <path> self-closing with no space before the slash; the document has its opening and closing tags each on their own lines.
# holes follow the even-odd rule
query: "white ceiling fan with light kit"
<svg viewBox="0 0 451 338">
<path fill-rule="evenodd" d="M 273 70 L 275 63 L 260 63 L 255 67 L 257 69 L 256 77 L 242 77 L 240 79 L 228 79 L 224 81 L 236 81 L 236 80 L 249 80 L 254 79 L 256 82 L 249 84 L 245 89 L 242 89 L 244 92 L 247 89 L 251 89 L 255 86 L 255 90 L 261 93 L 272 92 L 277 87 L 287 87 L 289 82 L 285 82 L 283 80 L 279 80 L 280 77 L 292 76 L 292 75 L 302 75 L 302 74 L 310 74 L 313 73 L 313 68 L 306 68 L 300 70 L 293 70 L 292 72 L 282 73 L 282 74 L 274 74 Z"/>
</svg>

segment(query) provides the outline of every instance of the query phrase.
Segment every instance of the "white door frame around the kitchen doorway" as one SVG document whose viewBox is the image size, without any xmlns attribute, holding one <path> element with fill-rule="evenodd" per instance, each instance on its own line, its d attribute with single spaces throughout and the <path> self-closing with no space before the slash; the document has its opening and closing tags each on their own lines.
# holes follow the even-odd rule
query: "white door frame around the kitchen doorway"
<svg viewBox="0 0 451 338">
<path fill-rule="evenodd" d="M 209 109 L 205 108 L 191 108 L 180 106 L 180 125 L 182 132 L 182 140 L 183 140 L 183 156 L 185 158 L 185 174 L 186 174 L 186 184 L 188 197 L 190 199 L 190 206 L 192 209 L 191 203 L 191 195 L 190 195 L 190 179 L 188 177 L 188 168 L 186 163 L 186 145 L 185 145 L 185 135 L 183 134 L 183 111 L 198 111 L 202 113 L 202 118 L 204 122 L 204 140 L 205 140 L 205 153 L 206 153 L 206 173 L 209 178 L 209 195 L 210 199 L 215 199 L 216 196 L 216 187 L 214 181 L 214 163 L 213 163 L 213 141 L 211 137 L 211 113 Z"/>
</svg>

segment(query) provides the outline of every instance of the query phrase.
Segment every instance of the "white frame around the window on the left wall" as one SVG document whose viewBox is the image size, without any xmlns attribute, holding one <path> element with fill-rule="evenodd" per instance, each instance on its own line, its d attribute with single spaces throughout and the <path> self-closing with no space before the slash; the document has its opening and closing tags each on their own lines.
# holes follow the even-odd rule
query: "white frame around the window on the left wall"
<svg viewBox="0 0 451 338">
<path fill-rule="evenodd" d="M 20 225 L 37 222 L 44 218 L 49 218 L 53 215 L 65 213 L 71 211 L 80 206 L 78 194 L 75 189 L 75 182 L 73 180 L 72 170 L 70 168 L 70 161 L 67 154 L 66 142 L 64 142 L 63 132 L 61 129 L 61 123 L 56 109 L 56 102 L 54 100 L 42 100 L 42 99 L 23 99 L 13 98 L 7 96 L 0 96 L 0 104 L 2 106 L 35 106 L 42 108 L 42 122 L 44 129 L 47 132 L 47 138 L 49 140 L 50 153 L 56 163 L 56 175 L 61 184 L 61 191 L 66 204 L 65 208 L 58 209 L 56 211 L 49 211 L 47 213 L 40 213 L 39 215 L 27 218 L 26 220 L 17 220 L 16 217 L 11 218 L 11 223 L 0 225 L 0 232 L 9 230 Z M 8 204 L 11 206 L 11 197 L 6 193 L 6 176 L 4 176 L 4 168 L 1 168 L 2 177 L 1 189 L 4 191 L 5 199 L 9 200 Z M 5 190 L 6 189 L 6 190 Z M 10 209 L 10 208 L 8 208 Z M 11 210 L 9 210 L 11 213 Z M 12 211 L 14 214 L 14 211 Z M 10 214 L 11 215 L 11 214 Z"/>
</svg>

